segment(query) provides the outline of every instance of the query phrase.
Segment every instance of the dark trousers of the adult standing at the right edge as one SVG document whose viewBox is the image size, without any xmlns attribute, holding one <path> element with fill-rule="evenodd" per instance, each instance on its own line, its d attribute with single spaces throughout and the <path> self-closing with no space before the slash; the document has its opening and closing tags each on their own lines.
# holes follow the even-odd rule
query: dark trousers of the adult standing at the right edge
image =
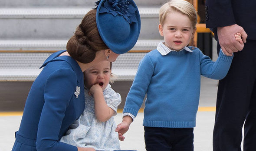
<svg viewBox="0 0 256 151">
<path fill-rule="evenodd" d="M 219 82 L 213 151 L 241 151 L 243 124 L 243 151 L 256 151 L 256 40 L 247 40 L 234 53 L 229 72 Z"/>
</svg>

